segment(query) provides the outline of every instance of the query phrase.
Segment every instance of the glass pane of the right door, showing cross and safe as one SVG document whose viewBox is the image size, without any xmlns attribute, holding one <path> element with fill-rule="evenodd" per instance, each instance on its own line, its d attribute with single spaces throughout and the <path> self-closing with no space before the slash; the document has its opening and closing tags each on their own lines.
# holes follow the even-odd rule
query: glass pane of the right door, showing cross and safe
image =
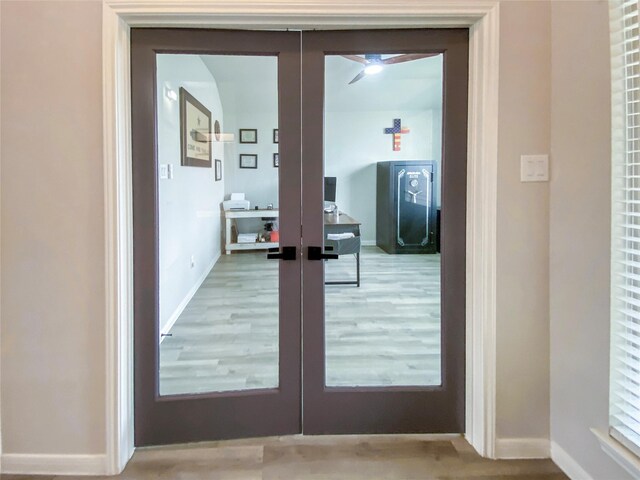
<svg viewBox="0 0 640 480">
<path fill-rule="evenodd" d="M 325 57 L 328 387 L 441 384 L 442 60 Z"/>
</svg>

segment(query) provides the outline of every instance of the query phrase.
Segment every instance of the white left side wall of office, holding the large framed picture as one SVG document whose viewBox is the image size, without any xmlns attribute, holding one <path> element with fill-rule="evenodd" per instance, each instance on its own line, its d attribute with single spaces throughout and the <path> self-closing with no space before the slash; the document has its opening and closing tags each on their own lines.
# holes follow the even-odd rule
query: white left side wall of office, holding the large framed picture
<svg viewBox="0 0 640 480">
<path fill-rule="evenodd" d="M 222 104 L 215 79 L 198 55 L 157 57 L 158 163 L 173 165 L 173 178 L 159 180 L 160 331 L 176 320 L 221 249 L 222 181 L 212 168 L 181 166 L 180 101 L 165 94 L 184 87 L 211 112 L 222 129 Z M 211 143 L 212 159 L 225 164 L 221 143 Z M 193 267 L 191 259 L 194 260 Z"/>
</svg>

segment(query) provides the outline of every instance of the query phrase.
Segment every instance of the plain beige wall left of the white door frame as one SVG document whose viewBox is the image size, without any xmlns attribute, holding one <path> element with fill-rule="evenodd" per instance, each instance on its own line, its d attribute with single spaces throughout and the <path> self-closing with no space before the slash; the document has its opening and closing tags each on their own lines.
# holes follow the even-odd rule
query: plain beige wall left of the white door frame
<svg viewBox="0 0 640 480">
<path fill-rule="evenodd" d="M 100 2 L 1 2 L 3 453 L 105 452 Z"/>
</svg>

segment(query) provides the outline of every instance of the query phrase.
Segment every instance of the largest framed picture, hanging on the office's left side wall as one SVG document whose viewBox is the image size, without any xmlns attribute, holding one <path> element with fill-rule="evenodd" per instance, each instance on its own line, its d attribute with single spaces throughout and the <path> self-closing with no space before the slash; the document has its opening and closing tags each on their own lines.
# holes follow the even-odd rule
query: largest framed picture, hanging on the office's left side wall
<svg viewBox="0 0 640 480">
<path fill-rule="evenodd" d="M 211 168 L 211 112 L 180 87 L 181 165 Z"/>
</svg>

